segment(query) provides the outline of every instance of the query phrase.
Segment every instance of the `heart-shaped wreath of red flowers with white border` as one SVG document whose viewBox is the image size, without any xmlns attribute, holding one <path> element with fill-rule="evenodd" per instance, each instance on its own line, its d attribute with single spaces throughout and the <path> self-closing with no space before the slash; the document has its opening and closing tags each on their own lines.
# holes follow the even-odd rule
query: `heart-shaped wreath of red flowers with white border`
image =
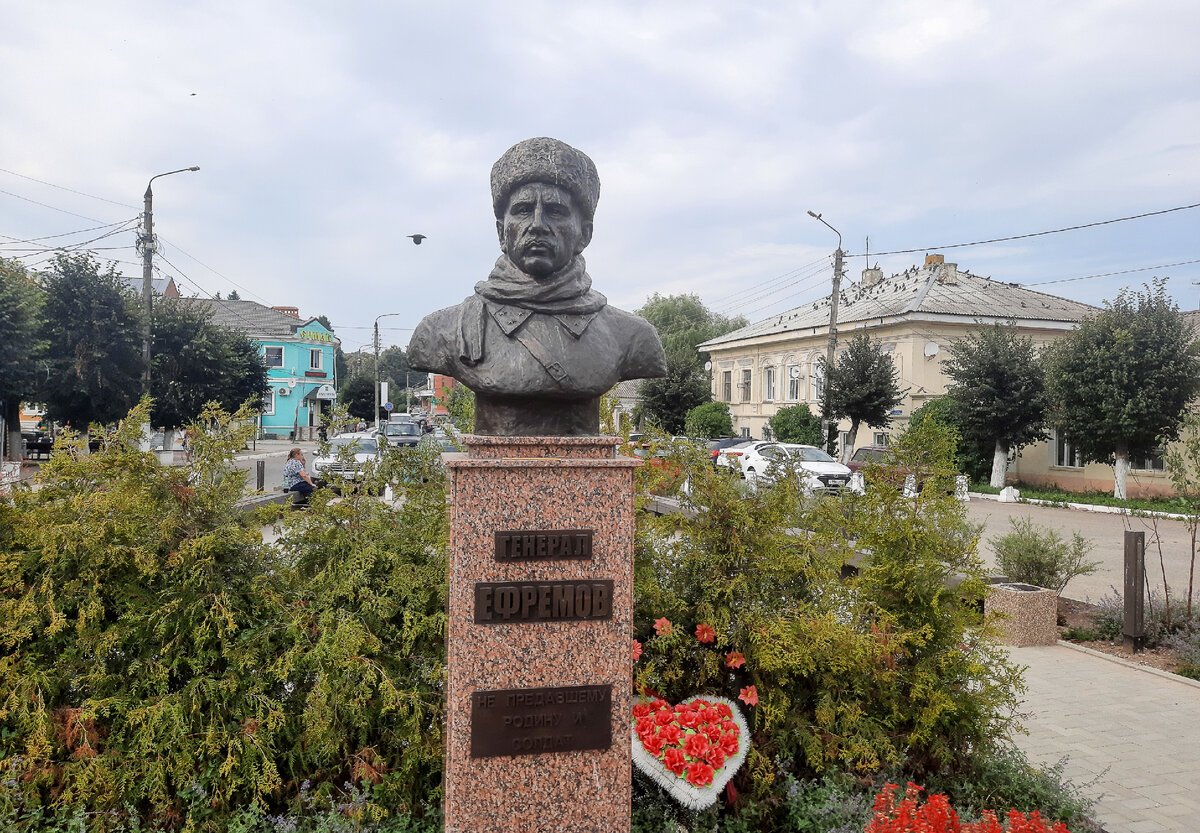
<svg viewBox="0 0 1200 833">
<path fill-rule="evenodd" d="M 745 718 L 725 697 L 634 706 L 634 765 L 689 809 L 714 804 L 749 749 Z"/>
</svg>

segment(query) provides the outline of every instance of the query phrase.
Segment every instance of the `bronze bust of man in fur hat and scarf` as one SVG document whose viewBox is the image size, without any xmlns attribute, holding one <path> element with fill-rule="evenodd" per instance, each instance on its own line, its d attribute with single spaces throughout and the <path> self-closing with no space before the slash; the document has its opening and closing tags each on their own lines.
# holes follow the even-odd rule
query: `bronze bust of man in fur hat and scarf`
<svg viewBox="0 0 1200 833">
<path fill-rule="evenodd" d="M 600 431 L 600 397 L 624 379 L 666 374 L 658 332 L 608 306 L 582 252 L 600 178 L 558 139 L 526 139 L 492 166 L 503 254 L 462 304 L 426 316 L 408 343 L 414 370 L 475 392 L 475 433 Z"/>
</svg>

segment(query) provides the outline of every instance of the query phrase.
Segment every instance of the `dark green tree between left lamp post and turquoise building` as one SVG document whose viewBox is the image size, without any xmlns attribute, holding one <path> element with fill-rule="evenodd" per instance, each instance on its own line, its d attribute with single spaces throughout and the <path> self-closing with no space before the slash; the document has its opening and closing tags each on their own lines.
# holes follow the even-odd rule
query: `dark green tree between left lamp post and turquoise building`
<svg viewBox="0 0 1200 833">
<path fill-rule="evenodd" d="M 266 395 L 266 366 L 254 343 L 218 326 L 208 306 L 163 299 L 155 306 L 150 373 L 154 425 L 174 430 L 209 402 L 236 410 Z"/>
</svg>

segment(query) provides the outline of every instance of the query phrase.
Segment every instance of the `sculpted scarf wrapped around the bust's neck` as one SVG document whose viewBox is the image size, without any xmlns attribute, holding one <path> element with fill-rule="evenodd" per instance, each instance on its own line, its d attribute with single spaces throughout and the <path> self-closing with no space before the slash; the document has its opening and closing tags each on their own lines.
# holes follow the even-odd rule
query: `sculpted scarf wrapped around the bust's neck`
<svg viewBox="0 0 1200 833">
<path fill-rule="evenodd" d="M 467 365 L 478 365 L 484 359 L 488 304 L 550 316 L 590 316 L 602 310 L 608 299 L 592 288 L 582 256 L 536 281 L 521 271 L 508 254 L 500 254 L 492 274 L 476 283 L 475 294 L 460 306 L 458 355 Z"/>
</svg>

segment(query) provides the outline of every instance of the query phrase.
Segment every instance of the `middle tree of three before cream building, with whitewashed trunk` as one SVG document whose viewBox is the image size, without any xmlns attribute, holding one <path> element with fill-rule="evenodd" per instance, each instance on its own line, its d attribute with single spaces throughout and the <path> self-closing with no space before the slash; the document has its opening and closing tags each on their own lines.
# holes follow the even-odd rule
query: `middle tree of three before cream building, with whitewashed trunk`
<svg viewBox="0 0 1200 833">
<path fill-rule="evenodd" d="M 942 371 L 959 430 L 991 441 L 991 486 L 1003 487 L 1009 453 L 1046 438 L 1045 372 L 1033 340 L 1015 322 L 985 326 L 950 344 Z"/>
</svg>

